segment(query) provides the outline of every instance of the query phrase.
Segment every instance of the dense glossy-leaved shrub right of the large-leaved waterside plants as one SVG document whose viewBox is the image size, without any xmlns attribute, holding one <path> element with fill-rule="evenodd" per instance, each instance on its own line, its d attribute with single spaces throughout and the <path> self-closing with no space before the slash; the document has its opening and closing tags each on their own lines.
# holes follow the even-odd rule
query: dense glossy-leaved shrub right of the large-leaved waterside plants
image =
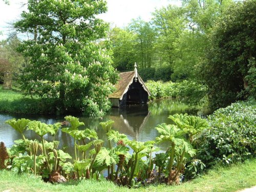
<svg viewBox="0 0 256 192">
<path fill-rule="evenodd" d="M 209 128 L 195 138 L 198 158 L 206 166 L 255 156 L 256 103 L 240 101 L 208 117 Z"/>
</svg>

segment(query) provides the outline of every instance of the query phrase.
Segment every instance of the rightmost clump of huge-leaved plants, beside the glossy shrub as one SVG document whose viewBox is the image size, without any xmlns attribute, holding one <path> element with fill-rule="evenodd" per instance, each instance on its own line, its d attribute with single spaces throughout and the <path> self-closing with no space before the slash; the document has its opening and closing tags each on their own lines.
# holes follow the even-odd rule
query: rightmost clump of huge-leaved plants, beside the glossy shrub
<svg viewBox="0 0 256 192">
<path fill-rule="evenodd" d="M 158 177 L 160 177 L 161 172 L 163 172 L 168 175 L 168 183 L 177 183 L 177 177 L 181 170 L 186 167 L 186 162 L 190 161 L 185 173 L 187 178 L 200 173 L 197 170 L 195 173 L 191 171 L 191 166 L 197 168 L 196 166 L 198 162 L 200 162 L 202 169 L 205 167 L 201 161 L 192 159 L 196 155 L 196 150 L 193 148 L 192 144 L 193 136 L 198 135 L 203 129 L 206 129 L 208 123 L 200 117 L 188 116 L 187 114 L 175 114 L 169 116 L 169 118 L 172 119 L 176 125 L 162 123 L 156 127 L 156 130 L 160 133 L 160 136 L 156 137 L 156 140 L 158 142 L 167 141 L 170 143 L 170 147 L 167 148 L 165 155 L 160 154 L 156 156 L 156 165 L 159 167 Z M 169 159 L 166 163 L 168 156 Z M 191 162 L 194 162 L 194 165 L 191 165 Z"/>
</svg>

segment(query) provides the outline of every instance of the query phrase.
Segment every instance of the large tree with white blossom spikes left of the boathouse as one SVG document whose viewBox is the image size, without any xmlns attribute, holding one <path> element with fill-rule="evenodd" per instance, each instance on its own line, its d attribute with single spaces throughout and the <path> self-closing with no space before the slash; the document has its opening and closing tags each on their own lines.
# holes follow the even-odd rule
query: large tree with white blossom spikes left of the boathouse
<svg viewBox="0 0 256 192">
<path fill-rule="evenodd" d="M 20 77 L 22 89 L 55 100 L 59 112 L 103 115 L 110 109 L 107 96 L 117 74 L 109 50 L 98 44 L 109 26 L 95 17 L 105 11 L 103 0 L 29 0 L 14 24 L 33 35 L 19 46 L 30 59 Z"/>
</svg>

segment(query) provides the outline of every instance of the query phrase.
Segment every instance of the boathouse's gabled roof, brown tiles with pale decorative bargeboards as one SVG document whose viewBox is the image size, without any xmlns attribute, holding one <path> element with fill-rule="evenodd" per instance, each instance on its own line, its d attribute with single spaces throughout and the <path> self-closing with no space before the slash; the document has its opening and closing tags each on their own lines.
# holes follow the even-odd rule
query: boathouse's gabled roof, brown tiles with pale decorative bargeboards
<svg viewBox="0 0 256 192">
<path fill-rule="evenodd" d="M 148 95 L 150 95 L 150 91 L 148 91 L 143 80 L 136 73 L 137 71 L 119 73 L 119 80 L 117 84 L 115 84 L 116 91 L 112 93 L 109 98 L 119 98 L 122 100 L 123 95 L 128 91 L 129 86 L 133 83 L 135 76 L 137 76 L 138 81 L 141 83 L 143 89 L 147 92 Z"/>
</svg>

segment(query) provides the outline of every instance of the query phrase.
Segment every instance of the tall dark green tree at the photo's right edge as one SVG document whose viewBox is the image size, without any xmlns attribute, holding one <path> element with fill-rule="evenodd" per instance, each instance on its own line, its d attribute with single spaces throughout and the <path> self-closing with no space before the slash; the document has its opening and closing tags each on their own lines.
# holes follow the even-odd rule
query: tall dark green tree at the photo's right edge
<svg viewBox="0 0 256 192">
<path fill-rule="evenodd" d="M 201 77 L 212 109 L 248 96 L 255 98 L 256 3 L 231 5 L 210 35 Z"/>
</svg>

